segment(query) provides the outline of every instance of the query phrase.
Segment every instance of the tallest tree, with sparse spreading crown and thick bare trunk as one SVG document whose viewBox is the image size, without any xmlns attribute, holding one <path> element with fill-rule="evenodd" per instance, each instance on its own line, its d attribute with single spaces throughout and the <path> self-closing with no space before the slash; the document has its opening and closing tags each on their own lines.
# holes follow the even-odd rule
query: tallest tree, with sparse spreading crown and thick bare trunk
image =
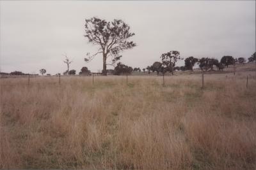
<svg viewBox="0 0 256 170">
<path fill-rule="evenodd" d="M 90 55 L 87 53 L 87 57 L 84 58 L 86 62 L 92 60 L 97 54 L 102 53 L 103 57 L 103 71 L 104 75 L 107 75 L 107 59 L 111 56 L 111 66 L 115 66 L 115 62 L 120 60 L 122 55 L 119 55 L 123 50 L 131 49 L 136 46 L 133 41 L 127 41 L 134 36 L 133 32 L 130 32 L 130 27 L 122 20 L 113 20 L 107 22 L 100 18 L 90 18 L 85 20 L 85 32 L 84 35 L 88 38 L 89 43 L 98 45 L 99 50 L 97 53 Z"/>
</svg>

